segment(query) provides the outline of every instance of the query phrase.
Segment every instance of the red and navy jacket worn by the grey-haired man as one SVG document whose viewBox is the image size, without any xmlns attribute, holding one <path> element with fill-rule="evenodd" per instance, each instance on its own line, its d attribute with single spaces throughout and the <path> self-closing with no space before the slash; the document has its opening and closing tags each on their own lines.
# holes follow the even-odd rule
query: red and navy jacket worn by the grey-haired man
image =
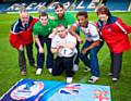
<svg viewBox="0 0 131 101">
<path fill-rule="evenodd" d="M 37 18 L 29 16 L 29 23 L 26 27 L 22 26 L 21 20 L 17 20 L 12 25 L 9 41 L 13 48 L 19 49 L 21 45 L 26 46 L 27 43 L 33 42 L 32 28 L 37 21 Z"/>
</svg>

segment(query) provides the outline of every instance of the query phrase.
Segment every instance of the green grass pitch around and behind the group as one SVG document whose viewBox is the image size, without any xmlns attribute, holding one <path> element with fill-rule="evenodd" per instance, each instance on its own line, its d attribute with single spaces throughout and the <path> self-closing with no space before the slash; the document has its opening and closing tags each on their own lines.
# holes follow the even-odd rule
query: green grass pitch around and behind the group
<svg viewBox="0 0 131 101">
<path fill-rule="evenodd" d="M 37 14 L 32 14 L 37 16 Z M 75 13 L 74 13 L 75 15 Z M 121 17 L 124 23 L 131 25 L 131 13 L 118 12 L 112 13 Z M 64 74 L 58 77 L 51 76 L 46 67 L 40 76 L 36 76 L 34 70 L 27 63 L 27 75 L 21 76 L 17 65 L 17 51 L 9 43 L 9 31 L 11 24 L 17 18 L 19 14 L 0 14 L 0 97 L 8 91 L 17 80 L 22 78 L 48 79 L 66 81 Z M 88 13 L 90 21 L 97 21 L 96 13 Z M 130 36 L 130 35 L 129 35 Z M 131 40 L 131 39 L 130 39 Z M 124 45 L 123 45 L 124 46 Z M 34 56 L 36 58 L 36 48 L 34 47 Z M 111 88 L 112 101 L 131 101 L 131 51 L 123 53 L 122 71 L 120 80 L 112 83 L 107 76 L 110 66 L 110 54 L 106 43 L 98 53 L 100 79 L 96 85 L 107 85 Z M 84 65 L 80 62 L 80 71 L 74 75 L 74 83 L 87 84 L 91 76 L 84 73 Z"/>
</svg>

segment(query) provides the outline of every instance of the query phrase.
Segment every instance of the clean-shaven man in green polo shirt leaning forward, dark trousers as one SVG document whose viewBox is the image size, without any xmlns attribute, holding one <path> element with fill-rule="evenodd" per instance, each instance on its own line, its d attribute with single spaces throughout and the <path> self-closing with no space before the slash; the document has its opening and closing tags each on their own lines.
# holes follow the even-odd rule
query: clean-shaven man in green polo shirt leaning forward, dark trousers
<svg viewBox="0 0 131 101">
<path fill-rule="evenodd" d="M 36 75 L 40 75 L 45 61 L 44 43 L 47 46 L 46 67 L 51 73 L 53 55 L 50 51 L 51 39 L 48 38 L 49 34 L 52 33 L 56 24 L 53 21 L 48 20 L 46 12 L 40 12 L 39 21 L 33 27 L 33 34 L 35 36 L 36 48 L 37 48 L 37 71 Z"/>
</svg>

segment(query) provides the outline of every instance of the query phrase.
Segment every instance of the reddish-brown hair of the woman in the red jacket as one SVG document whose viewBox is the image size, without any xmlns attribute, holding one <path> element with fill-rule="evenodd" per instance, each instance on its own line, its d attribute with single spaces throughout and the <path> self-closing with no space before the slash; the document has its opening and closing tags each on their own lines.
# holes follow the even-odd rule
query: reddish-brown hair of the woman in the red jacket
<svg viewBox="0 0 131 101">
<path fill-rule="evenodd" d="M 97 15 L 99 15 L 99 14 L 106 14 L 106 15 L 108 15 L 108 16 L 110 16 L 111 15 L 111 13 L 110 13 L 110 11 L 109 11 L 109 9 L 108 8 L 106 8 L 106 7 L 99 7 L 98 9 L 97 9 Z"/>
</svg>

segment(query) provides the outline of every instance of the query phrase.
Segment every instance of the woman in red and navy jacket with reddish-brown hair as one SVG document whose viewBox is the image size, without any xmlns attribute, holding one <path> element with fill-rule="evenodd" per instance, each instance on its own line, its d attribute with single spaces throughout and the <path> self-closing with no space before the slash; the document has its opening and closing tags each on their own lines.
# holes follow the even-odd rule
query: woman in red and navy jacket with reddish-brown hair
<svg viewBox="0 0 131 101">
<path fill-rule="evenodd" d="M 122 66 L 122 53 L 130 49 L 128 34 L 131 33 L 131 27 L 126 25 L 120 17 L 112 16 L 106 7 L 98 8 L 97 15 L 98 28 L 110 51 L 109 75 L 112 81 L 117 81 Z"/>
</svg>

